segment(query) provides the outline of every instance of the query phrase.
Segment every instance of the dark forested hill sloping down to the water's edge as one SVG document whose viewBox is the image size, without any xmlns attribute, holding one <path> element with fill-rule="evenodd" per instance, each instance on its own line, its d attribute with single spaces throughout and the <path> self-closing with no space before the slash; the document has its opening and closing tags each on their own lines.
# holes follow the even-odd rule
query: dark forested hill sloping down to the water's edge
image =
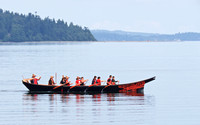
<svg viewBox="0 0 200 125">
<path fill-rule="evenodd" d="M 86 27 L 0 9 L 0 41 L 96 41 Z"/>
</svg>

